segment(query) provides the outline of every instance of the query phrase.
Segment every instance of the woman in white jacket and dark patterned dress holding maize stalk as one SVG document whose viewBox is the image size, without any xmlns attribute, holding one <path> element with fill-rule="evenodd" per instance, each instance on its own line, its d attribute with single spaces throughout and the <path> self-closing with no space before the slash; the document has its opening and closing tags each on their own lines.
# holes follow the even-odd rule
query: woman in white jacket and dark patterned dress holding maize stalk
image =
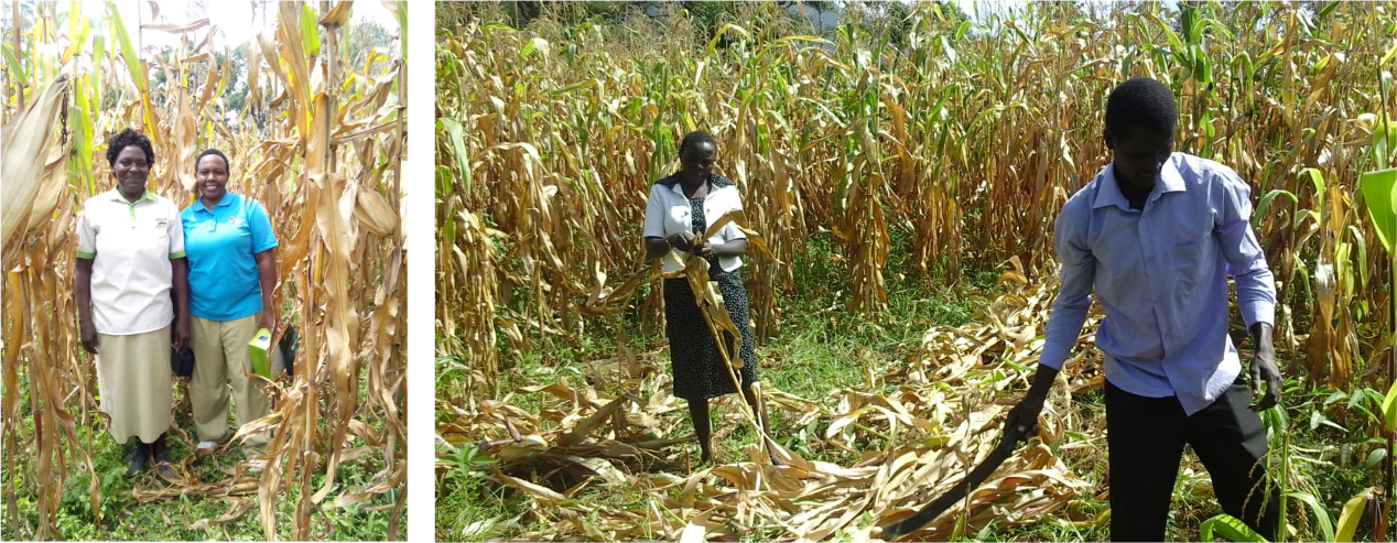
<svg viewBox="0 0 1397 543">
<path fill-rule="evenodd" d="M 729 223 L 707 240 L 696 239 L 708 230 L 712 221 L 731 209 L 742 208 L 738 187 L 712 173 L 717 158 L 718 145 L 712 135 L 701 131 L 685 135 L 679 144 L 680 170 L 650 187 L 644 229 L 645 257 L 659 258 L 671 250 L 679 251 L 682 258 L 665 260 L 665 272 L 682 269 L 679 261 L 687 258 L 683 253 L 708 260 L 708 279 L 717 282 L 732 324 L 742 332 L 740 343 L 735 342 L 729 332 L 722 332 L 728 339 L 724 345 L 728 346 L 728 356 L 742 360 L 742 369 L 735 371 L 742 380 L 742 394 L 757 413 L 763 434 L 770 437 L 766 405 L 752 387 L 757 381 L 757 363 L 747 320 L 747 292 L 742 286 L 739 274 L 740 257 L 747 251 L 746 235 Z M 665 321 L 675 395 L 689 402 L 689 415 L 698 434 L 701 461 L 708 462 L 712 456 L 708 442 L 708 398 L 732 394 L 738 388 L 724 367 L 712 332 L 694 303 L 689 279 L 683 276 L 665 279 Z M 766 442 L 768 456 L 773 456 L 774 463 L 780 463 L 771 454 L 774 442 L 770 438 Z"/>
</svg>

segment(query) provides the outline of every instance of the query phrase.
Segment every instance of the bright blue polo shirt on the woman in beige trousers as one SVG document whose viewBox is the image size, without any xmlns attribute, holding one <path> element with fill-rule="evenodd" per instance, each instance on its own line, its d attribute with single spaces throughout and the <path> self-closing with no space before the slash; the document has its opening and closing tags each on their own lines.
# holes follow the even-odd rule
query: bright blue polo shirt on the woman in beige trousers
<svg viewBox="0 0 1397 543">
<path fill-rule="evenodd" d="M 189 257 L 189 313 L 232 321 L 261 311 L 254 253 L 277 247 L 271 221 L 256 200 L 225 193 L 205 209 L 203 200 L 179 214 Z"/>
</svg>

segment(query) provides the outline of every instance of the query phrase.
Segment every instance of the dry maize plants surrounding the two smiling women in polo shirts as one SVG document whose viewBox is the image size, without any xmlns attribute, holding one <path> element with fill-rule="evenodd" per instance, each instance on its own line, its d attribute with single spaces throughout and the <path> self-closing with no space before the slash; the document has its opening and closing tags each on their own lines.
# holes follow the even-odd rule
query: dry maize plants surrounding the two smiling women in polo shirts
<svg viewBox="0 0 1397 543">
<path fill-rule="evenodd" d="M 249 85 L 242 110 L 222 99 L 235 75 L 229 49 L 240 43 L 225 43 L 218 27 L 247 21 L 173 24 L 165 17 L 140 24 L 123 21 L 113 0 L 96 13 L 84 11 L 81 1 L 46 0 L 28 14 L 32 25 L 4 36 L 6 539 L 61 537 L 54 528 L 60 494 L 80 475 L 87 476 L 81 494 L 92 521 L 109 528 L 122 522 L 99 511 L 108 490 L 94 472 L 92 449 L 110 437 L 94 399 L 94 357 L 78 343 L 73 278 L 81 204 L 115 186 L 106 141 L 127 127 L 155 148 L 147 188 L 180 208 L 194 201 L 194 156 L 205 148 L 229 156 L 228 190 L 268 211 L 279 241 L 275 299 L 288 300 L 282 324 L 292 322 L 302 336 L 295 362 L 288 360 L 295 378 L 270 381 L 272 413 L 243 429 L 272 431 L 265 470 L 210 483 L 190 475 L 190 454 L 177 459 L 179 480 L 137 486 L 130 498 L 222 500 L 226 515 L 197 523 L 217 526 L 251 512 L 268 540 L 324 539 L 326 509 L 374 503 L 393 511 L 386 536 L 404 536 L 408 49 L 402 35 L 401 47 L 351 63 L 338 40 L 352 4 L 254 1 L 264 21 L 275 24 L 249 43 L 246 73 L 237 74 Z M 408 3 L 384 4 L 407 28 Z M 145 7 L 159 13 L 155 1 Z M 21 22 L 18 3 L 11 21 Z M 182 47 L 170 57 L 138 49 L 138 32 L 177 35 Z M 265 124 L 258 127 L 254 116 Z M 190 448 L 197 441 L 179 426 L 170 440 Z M 337 482 L 337 470 L 351 463 L 374 476 L 367 484 Z M 324 483 L 313 486 L 312 475 Z M 24 484 L 38 500 L 21 511 L 15 494 Z M 281 515 L 278 526 L 277 504 L 288 501 L 295 514 Z"/>
</svg>

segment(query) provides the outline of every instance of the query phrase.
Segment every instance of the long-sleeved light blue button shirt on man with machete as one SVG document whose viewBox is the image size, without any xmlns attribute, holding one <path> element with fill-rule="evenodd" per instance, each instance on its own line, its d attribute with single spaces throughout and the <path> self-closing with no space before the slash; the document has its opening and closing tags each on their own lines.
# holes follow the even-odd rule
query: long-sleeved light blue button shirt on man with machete
<svg viewBox="0 0 1397 543">
<path fill-rule="evenodd" d="M 1106 165 L 1053 225 L 1060 286 L 1039 363 L 1062 369 L 1095 293 L 1106 381 L 1186 413 L 1213 403 L 1242 371 L 1227 334 L 1227 276 L 1242 320 L 1273 322 L 1275 285 L 1252 232 L 1250 188 L 1217 162 L 1175 152 L 1143 209 L 1130 209 Z"/>
</svg>

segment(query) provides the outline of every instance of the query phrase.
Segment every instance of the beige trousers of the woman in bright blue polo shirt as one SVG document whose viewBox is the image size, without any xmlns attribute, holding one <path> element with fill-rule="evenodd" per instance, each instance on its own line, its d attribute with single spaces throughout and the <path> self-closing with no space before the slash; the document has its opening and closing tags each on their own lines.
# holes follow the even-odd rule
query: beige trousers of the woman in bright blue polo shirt
<svg viewBox="0 0 1397 543">
<path fill-rule="evenodd" d="M 211 321 L 190 315 L 190 346 L 194 349 L 194 373 L 189 378 L 189 398 L 194 406 L 194 426 L 200 441 L 222 441 L 228 434 L 228 388 L 233 389 L 237 427 L 271 413 L 267 392 L 253 373 L 247 342 L 257 334 L 261 313 L 232 320 Z M 169 334 L 169 332 L 166 332 Z M 165 371 L 169 371 L 166 364 Z M 267 454 L 268 433 L 249 436 L 243 455 Z"/>
</svg>

